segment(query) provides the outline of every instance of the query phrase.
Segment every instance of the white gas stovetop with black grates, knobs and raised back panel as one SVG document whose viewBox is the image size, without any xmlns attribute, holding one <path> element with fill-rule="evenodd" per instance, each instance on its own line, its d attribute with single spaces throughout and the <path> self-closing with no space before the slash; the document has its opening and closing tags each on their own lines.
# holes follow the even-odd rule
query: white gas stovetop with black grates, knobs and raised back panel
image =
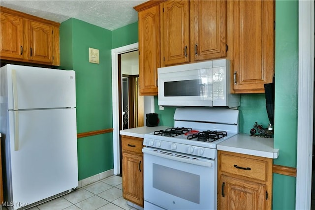
<svg viewBox="0 0 315 210">
<path fill-rule="evenodd" d="M 216 159 L 217 145 L 239 132 L 238 120 L 234 109 L 177 108 L 174 127 L 145 134 L 143 145 Z"/>
</svg>

